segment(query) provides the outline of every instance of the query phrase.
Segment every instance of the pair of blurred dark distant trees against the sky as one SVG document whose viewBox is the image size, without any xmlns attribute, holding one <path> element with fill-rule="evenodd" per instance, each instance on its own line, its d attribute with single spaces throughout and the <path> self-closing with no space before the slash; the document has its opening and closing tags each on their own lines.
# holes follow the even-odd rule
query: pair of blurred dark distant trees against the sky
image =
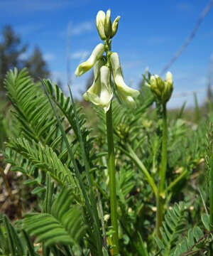
<svg viewBox="0 0 213 256">
<path fill-rule="evenodd" d="M 21 58 L 26 53 L 27 46 L 21 43 L 21 38 L 13 31 L 11 26 L 5 26 L 0 35 L 0 92 L 4 90 L 3 81 L 6 72 L 11 68 L 28 68 L 29 73 L 34 78 L 47 78 L 50 75 L 48 65 L 43 59 L 38 46 L 34 48 L 32 55 L 26 60 Z"/>
</svg>

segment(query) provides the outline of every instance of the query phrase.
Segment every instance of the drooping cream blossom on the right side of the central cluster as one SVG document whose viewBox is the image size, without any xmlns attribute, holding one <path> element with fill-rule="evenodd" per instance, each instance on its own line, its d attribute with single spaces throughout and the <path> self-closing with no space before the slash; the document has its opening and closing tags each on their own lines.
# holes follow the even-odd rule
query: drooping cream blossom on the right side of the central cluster
<svg viewBox="0 0 213 256">
<path fill-rule="evenodd" d="M 136 107 L 136 102 L 133 100 L 133 97 L 137 97 L 140 94 L 140 92 L 138 92 L 138 90 L 134 90 L 131 87 L 127 86 L 126 83 L 124 82 L 118 53 L 112 53 L 110 55 L 110 62 L 111 62 L 114 82 L 116 84 L 116 89 L 117 89 L 117 93 L 120 100 L 124 102 L 126 105 L 128 105 L 129 107 Z"/>
</svg>

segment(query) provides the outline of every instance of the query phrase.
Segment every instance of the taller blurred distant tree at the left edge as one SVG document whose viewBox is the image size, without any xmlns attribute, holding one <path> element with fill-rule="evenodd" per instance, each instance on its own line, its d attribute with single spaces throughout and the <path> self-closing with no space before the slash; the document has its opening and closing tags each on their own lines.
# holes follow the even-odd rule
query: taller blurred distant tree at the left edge
<svg viewBox="0 0 213 256">
<path fill-rule="evenodd" d="M 3 81 L 6 72 L 13 67 L 22 68 L 21 54 L 26 52 L 26 45 L 21 46 L 21 39 L 11 26 L 5 26 L 0 41 L 0 90 L 4 90 Z"/>
</svg>

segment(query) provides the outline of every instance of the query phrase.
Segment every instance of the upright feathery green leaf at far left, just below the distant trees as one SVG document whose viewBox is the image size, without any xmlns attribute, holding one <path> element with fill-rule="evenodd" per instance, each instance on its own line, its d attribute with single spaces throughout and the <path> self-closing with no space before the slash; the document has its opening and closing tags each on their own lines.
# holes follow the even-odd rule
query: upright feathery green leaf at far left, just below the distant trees
<svg viewBox="0 0 213 256">
<path fill-rule="evenodd" d="M 51 124 L 57 121 L 40 83 L 34 83 L 26 69 L 18 73 L 15 68 L 6 74 L 4 84 L 24 137 L 45 143 Z"/>
</svg>

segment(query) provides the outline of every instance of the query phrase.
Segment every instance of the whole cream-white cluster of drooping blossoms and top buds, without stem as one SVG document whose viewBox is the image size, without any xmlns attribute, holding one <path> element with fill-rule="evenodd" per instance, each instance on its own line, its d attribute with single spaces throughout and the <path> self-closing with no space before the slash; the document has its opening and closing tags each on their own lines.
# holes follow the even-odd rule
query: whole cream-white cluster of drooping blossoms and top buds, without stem
<svg viewBox="0 0 213 256">
<path fill-rule="evenodd" d="M 89 100 L 94 105 L 103 107 L 105 112 L 109 110 L 113 97 L 111 73 L 116 85 L 115 90 L 121 102 L 130 107 L 136 107 L 133 97 L 139 95 L 138 90 L 134 90 L 125 84 L 119 55 L 110 51 L 111 38 L 116 34 L 120 18 L 120 16 L 116 17 L 111 24 L 110 14 L 110 10 L 107 11 L 106 15 L 104 11 L 98 12 L 96 25 L 99 36 L 104 43 L 99 43 L 92 51 L 88 60 L 81 63 L 75 70 L 75 75 L 80 76 L 94 66 L 94 81 L 83 97 L 84 100 Z M 104 52 L 106 55 L 104 55 Z"/>
</svg>

